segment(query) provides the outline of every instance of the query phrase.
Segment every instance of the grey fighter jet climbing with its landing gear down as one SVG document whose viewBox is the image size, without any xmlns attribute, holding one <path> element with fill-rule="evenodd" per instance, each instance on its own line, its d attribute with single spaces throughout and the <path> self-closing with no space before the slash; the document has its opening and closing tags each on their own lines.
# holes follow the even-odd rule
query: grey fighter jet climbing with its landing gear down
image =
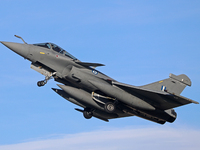
<svg viewBox="0 0 200 150">
<path fill-rule="evenodd" d="M 16 37 L 22 39 L 20 36 Z M 82 107 L 75 110 L 86 119 L 109 119 L 138 116 L 159 124 L 174 122 L 173 108 L 198 102 L 181 96 L 191 80 L 184 74 L 170 74 L 169 78 L 144 86 L 118 82 L 96 70 L 100 63 L 82 62 L 53 43 L 23 44 L 1 42 L 3 45 L 31 61 L 31 68 L 45 76 L 39 87 L 50 79 L 59 82 L 52 88 L 66 100 Z"/>
</svg>

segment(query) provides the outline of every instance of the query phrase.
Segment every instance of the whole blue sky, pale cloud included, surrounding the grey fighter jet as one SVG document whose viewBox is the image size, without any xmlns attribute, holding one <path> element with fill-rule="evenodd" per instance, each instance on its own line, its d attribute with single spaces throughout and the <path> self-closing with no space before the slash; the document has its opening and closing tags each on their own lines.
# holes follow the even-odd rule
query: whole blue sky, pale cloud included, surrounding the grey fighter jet
<svg viewBox="0 0 200 150">
<path fill-rule="evenodd" d="M 199 1 L 0 2 L 0 41 L 21 42 L 17 34 L 30 44 L 53 42 L 81 61 L 105 64 L 98 70 L 136 86 L 168 78 L 169 73 L 186 74 L 192 86 L 181 95 L 200 102 Z M 51 90 L 57 87 L 53 80 L 37 87 L 44 77 L 30 62 L 2 44 L 0 49 L 0 149 L 92 149 L 93 140 L 97 146 L 105 144 L 104 149 L 141 148 L 144 142 L 143 148 L 163 144 L 182 149 L 200 138 L 200 105 L 176 108 L 177 120 L 163 126 L 138 117 L 109 123 L 86 120 L 74 110 L 78 106 Z M 85 142 L 83 137 L 88 137 Z"/>
</svg>

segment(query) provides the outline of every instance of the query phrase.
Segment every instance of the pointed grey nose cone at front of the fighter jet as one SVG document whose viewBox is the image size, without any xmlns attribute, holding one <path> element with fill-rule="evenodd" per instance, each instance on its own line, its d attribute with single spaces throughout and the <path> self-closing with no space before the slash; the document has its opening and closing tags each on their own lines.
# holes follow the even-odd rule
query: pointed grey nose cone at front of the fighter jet
<svg viewBox="0 0 200 150">
<path fill-rule="evenodd" d="M 27 44 L 21 44 L 21 43 L 13 43 L 13 42 L 2 42 L 3 45 L 11 49 L 13 52 L 21 55 L 24 58 L 27 58 L 29 53 L 29 48 Z"/>
</svg>

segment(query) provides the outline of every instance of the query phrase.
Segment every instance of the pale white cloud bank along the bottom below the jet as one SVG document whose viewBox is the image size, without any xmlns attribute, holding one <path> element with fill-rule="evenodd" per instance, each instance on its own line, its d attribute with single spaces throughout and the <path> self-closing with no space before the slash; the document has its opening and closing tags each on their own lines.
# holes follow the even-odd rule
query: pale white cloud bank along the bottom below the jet
<svg viewBox="0 0 200 150">
<path fill-rule="evenodd" d="M 199 149 L 200 130 L 190 128 L 126 128 L 62 135 L 55 139 L 2 145 L 2 150 Z"/>
</svg>

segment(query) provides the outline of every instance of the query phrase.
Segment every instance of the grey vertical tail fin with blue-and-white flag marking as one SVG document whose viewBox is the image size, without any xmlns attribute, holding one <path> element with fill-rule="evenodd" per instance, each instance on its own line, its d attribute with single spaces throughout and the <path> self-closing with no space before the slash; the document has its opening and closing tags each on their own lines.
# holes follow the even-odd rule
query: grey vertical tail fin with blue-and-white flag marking
<svg viewBox="0 0 200 150">
<path fill-rule="evenodd" d="M 188 76 L 185 74 L 176 76 L 171 73 L 168 79 L 160 80 L 142 87 L 154 91 L 168 91 L 169 93 L 180 95 L 187 85 L 191 86 L 191 80 Z"/>
</svg>

